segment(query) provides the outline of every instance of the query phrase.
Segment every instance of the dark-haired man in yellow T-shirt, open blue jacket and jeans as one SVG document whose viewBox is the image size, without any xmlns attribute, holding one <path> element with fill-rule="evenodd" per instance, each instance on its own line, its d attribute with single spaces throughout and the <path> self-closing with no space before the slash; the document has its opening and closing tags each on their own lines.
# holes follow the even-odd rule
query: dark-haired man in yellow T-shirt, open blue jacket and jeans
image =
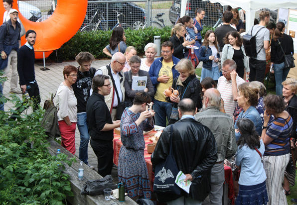
<svg viewBox="0 0 297 205">
<path fill-rule="evenodd" d="M 162 127 L 166 126 L 166 118 L 169 121 L 172 109 L 171 103 L 166 101 L 163 92 L 172 86 L 173 79 L 179 76 L 179 73 L 174 68 L 179 59 L 174 57 L 172 53 L 173 44 L 170 41 L 162 43 L 162 57 L 155 59 L 148 71 L 155 91 L 153 100 L 155 124 Z"/>
</svg>

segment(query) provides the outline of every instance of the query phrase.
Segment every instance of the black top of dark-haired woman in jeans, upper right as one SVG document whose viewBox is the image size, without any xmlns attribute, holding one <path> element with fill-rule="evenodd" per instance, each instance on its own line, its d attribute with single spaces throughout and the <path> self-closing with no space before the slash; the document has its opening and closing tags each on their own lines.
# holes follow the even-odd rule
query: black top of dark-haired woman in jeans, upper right
<svg viewBox="0 0 297 205">
<path fill-rule="evenodd" d="M 283 37 L 280 37 L 279 40 L 286 54 L 291 54 L 291 52 L 294 54 L 294 45 L 293 45 L 293 39 L 291 36 L 287 34 L 283 34 Z M 276 64 L 285 62 L 284 52 L 282 51 L 278 40 L 277 41 L 275 41 L 274 39 L 271 40 L 270 54 L 271 54 L 271 62 Z"/>
</svg>

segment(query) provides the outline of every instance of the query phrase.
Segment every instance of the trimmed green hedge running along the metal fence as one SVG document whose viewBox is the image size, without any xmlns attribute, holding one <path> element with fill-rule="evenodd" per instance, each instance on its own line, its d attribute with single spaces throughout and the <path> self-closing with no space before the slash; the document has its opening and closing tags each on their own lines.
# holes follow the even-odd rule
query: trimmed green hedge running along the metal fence
<svg viewBox="0 0 297 205">
<path fill-rule="evenodd" d="M 204 27 L 201 32 L 202 37 L 206 30 L 210 27 Z M 149 42 L 153 42 L 153 36 L 161 36 L 161 42 L 170 38 L 171 27 L 158 28 L 146 28 L 144 30 L 130 30 L 126 29 L 126 44 L 128 46 L 136 47 L 138 55 L 144 55 L 145 46 Z M 80 32 L 78 31 L 68 42 L 64 43 L 60 49 L 58 49 L 59 60 L 74 60 L 75 56 L 81 51 L 88 51 L 94 55 L 96 59 L 107 58 L 102 50 L 109 44 L 109 38 L 112 31 L 90 31 Z M 55 54 L 51 55 L 52 59 L 55 59 Z"/>
</svg>

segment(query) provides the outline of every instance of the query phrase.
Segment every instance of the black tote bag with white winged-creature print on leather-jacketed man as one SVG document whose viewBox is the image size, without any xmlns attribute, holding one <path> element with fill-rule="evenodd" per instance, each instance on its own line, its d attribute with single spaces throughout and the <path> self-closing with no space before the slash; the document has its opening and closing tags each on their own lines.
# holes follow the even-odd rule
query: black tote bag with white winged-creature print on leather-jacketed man
<svg viewBox="0 0 297 205">
<path fill-rule="evenodd" d="M 180 188 L 175 184 L 175 178 L 179 170 L 172 155 L 172 125 L 170 127 L 170 151 L 166 160 L 155 166 L 153 192 L 159 195 L 180 195 Z"/>
</svg>

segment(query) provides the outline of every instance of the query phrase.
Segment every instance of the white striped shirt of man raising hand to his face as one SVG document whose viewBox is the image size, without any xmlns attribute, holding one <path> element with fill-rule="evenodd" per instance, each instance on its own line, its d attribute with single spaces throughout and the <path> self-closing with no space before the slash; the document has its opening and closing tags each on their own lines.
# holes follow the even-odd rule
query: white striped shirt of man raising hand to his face
<svg viewBox="0 0 297 205">
<path fill-rule="evenodd" d="M 237 89 L 240 84 L 245 83 L 245 80 L 240 78 L 238 75 L 236 76 L 236 84 Z M 226 114 L 229 114 L 230 116 L 233 116 L 233 112 L 235 110 L 237 102 L 233 100 L 232 95 L 232 81 L 227 81 L 227 79 L 224 76 L 221 76 L 218 80 L 218 91 L 221 94 L 221 98 L 224 101 L 224 108 L 226 111 Z"/>
</svg>

